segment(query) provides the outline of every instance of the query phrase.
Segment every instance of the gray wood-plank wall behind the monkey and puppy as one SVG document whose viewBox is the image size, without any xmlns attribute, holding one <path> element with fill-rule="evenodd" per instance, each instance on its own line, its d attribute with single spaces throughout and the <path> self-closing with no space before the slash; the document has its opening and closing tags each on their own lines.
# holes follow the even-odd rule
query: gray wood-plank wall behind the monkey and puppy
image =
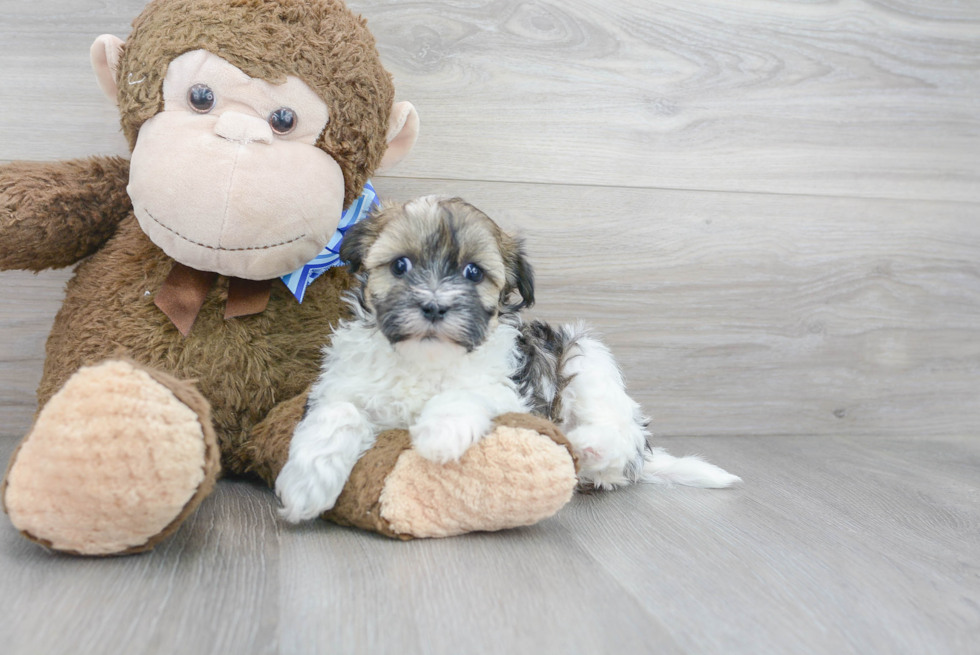
<svg viewBox="0 0 980 655">
<path fill-rule="evenodd" d="M 127 153 L 86 53 L 142 4 L 0 3 L 0 160 Z M 422 117 L 381 193 L 521 230 L 656 434 L 980 425 L 980 6 L 353 4 Z M 0 274 L 17 430 L 66 275 Z"/>
</svg>

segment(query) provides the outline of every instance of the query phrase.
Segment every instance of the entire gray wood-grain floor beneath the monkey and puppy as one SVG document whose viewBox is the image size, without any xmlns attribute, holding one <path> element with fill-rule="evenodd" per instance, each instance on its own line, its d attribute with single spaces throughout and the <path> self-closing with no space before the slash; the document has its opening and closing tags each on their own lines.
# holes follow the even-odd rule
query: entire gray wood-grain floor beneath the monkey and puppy
<svg viewBox="0 0 980 655">
<path fill-rule="evenodd" d="M 661 443 L 746 485 L 578 495 L 531 528 L 402 543 L 282 525 L 270 491 L 223 481 L 153 553 L 99 560 L 3 522 L 3 652 L 980 652 L 980 441 Z"/>
</svg>

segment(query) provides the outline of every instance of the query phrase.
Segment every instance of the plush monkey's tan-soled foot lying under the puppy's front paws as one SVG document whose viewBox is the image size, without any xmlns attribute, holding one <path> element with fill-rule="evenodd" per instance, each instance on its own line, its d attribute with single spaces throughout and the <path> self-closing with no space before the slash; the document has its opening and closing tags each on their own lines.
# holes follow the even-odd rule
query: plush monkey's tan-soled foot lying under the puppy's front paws
<svg viewBox="0 0 980 655">
<path fill-rule="evenodd" d="M 422 458 L 406 430 L 390 430 L 323 517 L 401 539 L 532 525 L 569 501 L 576 467 L 564 435 L 527 414 L 499 417 L 489 435 L 449 464 Z"/>
</svg>

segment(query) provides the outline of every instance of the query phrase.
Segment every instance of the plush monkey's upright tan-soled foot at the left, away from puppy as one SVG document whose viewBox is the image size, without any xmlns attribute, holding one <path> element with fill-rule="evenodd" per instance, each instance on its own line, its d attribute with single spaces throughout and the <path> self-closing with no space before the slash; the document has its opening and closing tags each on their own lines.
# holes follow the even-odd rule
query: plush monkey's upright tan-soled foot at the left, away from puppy
<svg viewBox="0 0 980 655">
<path fill-rule="evenodd" d="M 11 458 L 4 509 L 26 537 L 82 555 L 152 548 L 219 470 L 207 401 L 128 361 L 79 370 Z"/>
</svg>

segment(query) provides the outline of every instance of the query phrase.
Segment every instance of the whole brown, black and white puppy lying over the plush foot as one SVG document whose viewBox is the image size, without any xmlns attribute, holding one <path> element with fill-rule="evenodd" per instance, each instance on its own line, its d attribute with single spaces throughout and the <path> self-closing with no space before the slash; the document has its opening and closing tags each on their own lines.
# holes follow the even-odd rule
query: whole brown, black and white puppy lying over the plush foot
<svg viewBox="0 0 980 655">
<path fill-rule="evenodd" d="M 507 412 L 555 422 L 583 485 L 739 481 L 651 448 L 612 354 L 586 329 L 522 320 L 534 303 L 523 244 L 472 205 L 427 196 L 386 206 L 348 230 L 340 256 L 359 283 L 353 319 L 324 349 L 276 480 L 287 520 L 332 508 L 382 430 L 408 428 L 419 455 L 445 463 Z"/>
</svg>

